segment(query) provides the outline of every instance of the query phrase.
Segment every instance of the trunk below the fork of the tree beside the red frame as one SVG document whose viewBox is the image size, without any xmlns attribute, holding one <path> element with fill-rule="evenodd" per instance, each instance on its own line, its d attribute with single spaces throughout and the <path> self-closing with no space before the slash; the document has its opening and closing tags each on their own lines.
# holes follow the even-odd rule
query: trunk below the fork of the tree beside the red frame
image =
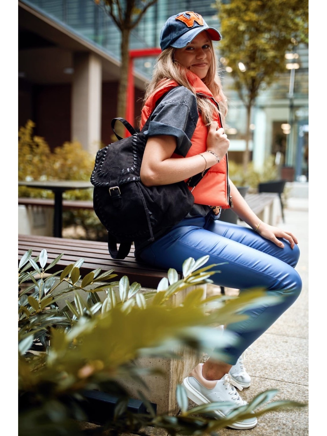
<svg viewBox="0 0 327 436">
<path fill-rule="evenodd" d="M 126 98 L 127 98 L 127 82 L 128 82 L 128 50 L 129 50 L 129 29 L 123 29 L 122 42 L 120 45 L 121 61 L 120 77 L 117 93 L 117 115 L 122 118 L 126 118 Z M 115 128 L 119 136 L 125 136 L 125 127 L 122 123 L 117 123 Z"/>
</svg>

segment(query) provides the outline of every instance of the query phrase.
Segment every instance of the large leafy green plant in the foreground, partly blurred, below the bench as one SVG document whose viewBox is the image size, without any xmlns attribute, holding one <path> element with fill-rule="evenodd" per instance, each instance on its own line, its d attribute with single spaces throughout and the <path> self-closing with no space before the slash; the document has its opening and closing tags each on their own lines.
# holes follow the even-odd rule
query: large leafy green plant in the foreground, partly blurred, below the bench
<svg viewBox="0 0 327 436">
<path fill-rule="evenodd" d="M 184 388 L 177 385 L 176 398 L 181 409 L 177 416 L 169 410 L 157 416 L 141 392 L 148 413 L 129 412 L 129 393 L 119 379 L 140 379 L 145 368 L 135 363 L 138 357 L 181 358 L 174 351 L 178 345 L 219 358 L 217 343 L 223 346 L 224 340 L 232 337 L 224 339 L 216 326 L 244 318 L 239 312 L 246 307 L 276 302 L 279 297 L 269 297 L 262 290 L 239 297 L 204 297 L 202 286 L 212 283 L 210 276 L 218 266 L 204 266 L 208 256 L 197 261 L 187 259 L 182 279 L 176 270 L 169 269 L 157 290 L 143 292 L 139 283 L 130 284 L 126 276 L 115 281 L 112 270 L 95 269 L 82 278 L 79 268 L 83 259 L 57 275 L 51 274 L 62 254 L 46 267 L 46 250 L 35 258 L 31 252 L 30 249 L 23 255 L 18 267 L 20 436 L 86 434 L 80 425 L 88 419 L 81 407 L 85 389 L 109 392 L 118 399 L 106 425 L 92 434 L 104 434 L 107 430 L 109 433 L 105 434 L 145 435 L 145 427 L 156 427 L 170 435 L 201 435 L 246 419 L 252 408 L 260 408 L 255 412 L 259 416 L 271 410 L 303 406 L 292 401 L 264 405 L 277 392 L 271 390 L 226 419 L 217 420 L 212 410 L 218 403 L 187 409 Z M 175 296 L 194 285 L 197 286 L 186 293 L 181 303 L 172 303 Z"/>
</svg>

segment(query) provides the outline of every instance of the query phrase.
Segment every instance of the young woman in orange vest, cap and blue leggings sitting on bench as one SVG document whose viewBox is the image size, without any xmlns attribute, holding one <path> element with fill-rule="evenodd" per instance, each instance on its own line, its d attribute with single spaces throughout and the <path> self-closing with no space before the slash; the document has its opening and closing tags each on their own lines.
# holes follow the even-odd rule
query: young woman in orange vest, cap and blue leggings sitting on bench
<svg viewBox="0 0 327 436">
<path fill-rule="evenodd" d="M 211 277 L 215 284 L 240 289 L 240 293 L 260 287 L 283 296 L 282 302 L 247 310 L 245 321 L 226 326 L 238 337 L 236 344 L 225 347 L 226 361 L 209 358 L 184 379 L 187 395 L 196 404 L 234 403 L 216 411 L 226 416 L 245 404 L 234 386 L 250 385 L 242 353 L 290 307 L 302 283 L 294 269 L 300 255 L 296 237 L 259 220 L 228 179 L 226 98 L 212 45 L 220 39 L 201 15 L 188 11 L 170 17 L 161 31 L 162 53 L 142 110 L 140 127 L 152 115 L 141 180 L 146 186 L 170 184 L 209 170 L 192 191 L 191 212 L 154 242 L 135 245 L 136 255 L 144 262 L 179 271 L 185 259 L 209 255 L 209 264 L 226 262 Z M 221 207 L 234 207 L 250 228 L 219 221 Z M 232 428 L 249 429 L 256 423 L 254 417 L 235 422 Z"/>
</svg>

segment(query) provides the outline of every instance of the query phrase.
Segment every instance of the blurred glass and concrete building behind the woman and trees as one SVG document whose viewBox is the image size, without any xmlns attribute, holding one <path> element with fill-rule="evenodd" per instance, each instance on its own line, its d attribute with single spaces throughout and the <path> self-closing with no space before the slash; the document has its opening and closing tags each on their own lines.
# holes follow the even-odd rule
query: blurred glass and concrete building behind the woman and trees
<svg viewBox="0 0 327 436">
<path fill-rule="evenodd" d="M 160 30 L 172 14 L 193 10 L 219 29 L 212 0 L 158 0 L 132 31 L 130 49 L 159 48 Z M 18 1 L 18 123 L 35 123 L 34 134 L 54 149 L 78 140 L 94 154 L 114 139 L 120 66 L 120 32 L 93 0 Z M 219 59 L 219 45 L 217 48 Z M 154 57 L 134 60 L 134 125 Z M 221 64 L 221 67 L 223 65 Z M 242 161 L 245 108 L 221 70 L 229 101 L 229 159 Z M 286 53 L 285 73 L 260 93 L 252 110 L 252 160 L 260 168 L 275 156 L 280 177 L 308 180 L 308 47 Z"/>
</svg>

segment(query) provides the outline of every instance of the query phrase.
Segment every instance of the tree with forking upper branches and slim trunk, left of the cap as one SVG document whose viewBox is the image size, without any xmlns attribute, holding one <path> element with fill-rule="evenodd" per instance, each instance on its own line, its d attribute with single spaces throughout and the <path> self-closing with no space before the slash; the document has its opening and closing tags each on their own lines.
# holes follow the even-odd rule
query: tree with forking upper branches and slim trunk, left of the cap
<svg viewBox="0 0 327 436">
<path fill-rule="evenodd" d="M 117 116 L 126 116 L 126 96 L 128 80 L 128 50 L 130 32 L 139 24 L 146 10 L 157 0 L 94 0 L 103 8 L 121 32 L 121 68 L 118 84 Z M 123 125 L 117 126 L 117 133 L 123 137 Z"/>
</svg>

